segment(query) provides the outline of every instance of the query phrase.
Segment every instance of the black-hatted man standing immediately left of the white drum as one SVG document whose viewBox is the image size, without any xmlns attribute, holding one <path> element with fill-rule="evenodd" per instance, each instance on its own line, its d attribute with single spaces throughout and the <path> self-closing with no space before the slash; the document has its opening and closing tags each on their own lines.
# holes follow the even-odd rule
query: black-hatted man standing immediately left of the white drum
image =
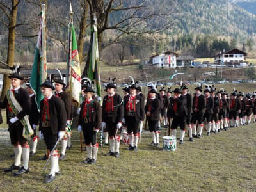
<svg viewBox="0 0 256 192">
<path fill-rule="evenodd" d="M 160 100 L 156 97 L 157 92 L 155 89 L 150 90 L 148 93 L 148 100 L 145 106 L 145 113 L 147 115 L 149 131 L 152 134 L 152 143 L 149 145 L 159 147 L 159 114 L 160 114 Z"/>
</svg>

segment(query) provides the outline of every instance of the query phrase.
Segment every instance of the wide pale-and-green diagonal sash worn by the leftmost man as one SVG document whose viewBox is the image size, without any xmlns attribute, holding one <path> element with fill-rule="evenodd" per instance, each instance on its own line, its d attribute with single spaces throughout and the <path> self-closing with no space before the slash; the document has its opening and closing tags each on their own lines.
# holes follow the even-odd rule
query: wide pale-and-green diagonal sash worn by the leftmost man
<svg viewBox="0 0 256 192">
<path fill-rule="evenodd" d="M 22 107 L 20 106 L 19 102 L 15 99 L 13 92 L 10 90 L 7 91 L 6 97 L 8 103 L 10 104 L 10 108 L 12 109 L 13 113 L 17 116 L 20 111 L 22 111 Z M 25 115 L 23 118 L 20 119 L 21 124 L 23 125 L 23 133 L 22 136 L 28 139 L 32 134 L 34 134 L 33 129 L 29 123 L 28 115 Z"/>
</svg>

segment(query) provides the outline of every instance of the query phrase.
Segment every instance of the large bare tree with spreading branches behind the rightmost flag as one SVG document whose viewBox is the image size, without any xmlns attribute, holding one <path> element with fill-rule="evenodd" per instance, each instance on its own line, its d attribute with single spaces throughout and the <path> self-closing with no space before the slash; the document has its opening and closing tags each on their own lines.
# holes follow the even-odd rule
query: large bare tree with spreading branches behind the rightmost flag
<svg viewBox="0 0 256 192">
<path fill-rule="evenodd" d="M 124 34 L 154 36 L 172 27 L 170 16 L 177 12 L 175 6 L 177 1 L 163 0 L 158 6 L 154 6 L 149 0 L 125 1 L 125 3 L 122 0 L 87 0 L 87 2 L 90 6 L 91 24 L 93 24 L 93 15 L 97 17 L 99 49 L 102 47 L 103 33 L 106 30 L 117 31 L 118 35 L 113 42 Z M 115 17 L 115 22 L 109 22 L 110 17 Z M 82 76 L 87 76 L 89 60 L 90 55 Z"/>
</svg>

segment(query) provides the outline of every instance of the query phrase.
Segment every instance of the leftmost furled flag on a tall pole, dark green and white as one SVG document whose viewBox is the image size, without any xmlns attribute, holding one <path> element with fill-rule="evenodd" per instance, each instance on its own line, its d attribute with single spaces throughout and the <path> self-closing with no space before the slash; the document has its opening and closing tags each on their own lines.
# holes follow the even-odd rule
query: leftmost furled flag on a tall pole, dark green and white
<svg viewBox="0 0 256 192">
<path fill-rule="evenodd" d="M 40 84 L 44 83 L 46 72 L 46 50 L 45 50 L 45 15 L 44 10 L 39 15 L 40 29 L 38 32 L 38 40 L 36 44 L 35 58 L 31 70 L 30 86 L 36 95 L 36 104 L 38 111 L 40 109 L 40 101 L 43 99 Z"/>
</svg>

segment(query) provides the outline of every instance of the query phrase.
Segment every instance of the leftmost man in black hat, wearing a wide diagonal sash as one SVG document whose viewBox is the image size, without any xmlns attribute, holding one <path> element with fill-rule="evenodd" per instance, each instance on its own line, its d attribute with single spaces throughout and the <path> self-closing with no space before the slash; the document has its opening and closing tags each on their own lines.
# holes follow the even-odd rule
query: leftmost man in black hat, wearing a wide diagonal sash
<svg viewBox="0 0 256 192">
<path fill-rule="evenodd" d="M 33 134 L 28 120 L 31 102 L 28 92 L 20 88 L 23 78 L 18 73 L 8 77 L 11 79 L 12 88 L 6 92 L 3 102 L 0 102 L 0 108 L 6 108 L 8 131 L 10 132 L 11 143 L 14 147 L 15 161 L 4 172 L 19 170 L 14 175 L 21 175 L 29 172 L 29 145 L 27 138 Z M 23 129 L 27 129 L 27 131 L 29 129 L 26 138 L 23 134 Z M 20 167 L 21 156 L 23 159 L 22 167 Z"/>
</svg>

